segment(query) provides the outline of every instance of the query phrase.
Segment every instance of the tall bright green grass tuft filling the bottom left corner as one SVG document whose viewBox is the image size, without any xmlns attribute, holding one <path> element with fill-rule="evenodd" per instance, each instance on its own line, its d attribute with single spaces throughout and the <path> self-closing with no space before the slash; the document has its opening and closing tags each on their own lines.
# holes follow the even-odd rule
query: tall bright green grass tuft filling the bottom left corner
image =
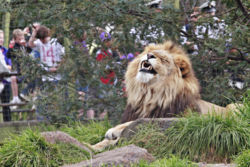
<svg viewBox="0 0 250 167">
<path fill-rule="evenodd" d="M 24 131 L 13 135 L 0 147 L 0 166 L 32 167 L 59 166 L 63 164 L 57 146 L 45 142 L 38 132 Z"/>
</svg>

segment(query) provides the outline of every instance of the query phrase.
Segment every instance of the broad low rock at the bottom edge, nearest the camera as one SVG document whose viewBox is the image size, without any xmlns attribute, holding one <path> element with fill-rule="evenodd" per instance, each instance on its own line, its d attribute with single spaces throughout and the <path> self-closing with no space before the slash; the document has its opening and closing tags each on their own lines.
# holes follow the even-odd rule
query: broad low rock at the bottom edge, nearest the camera
<svg viewBox="0 0 250 167">
<path fill-rule="evenodd" d="M 91 160 L 82 161 L 80 163 L 72 165 L 64 165 L 63 167 L 99 167 L 101 165 L 122 165 L 123 167 L 129 167 L 131 164 L 138 163 L 142 159 L 148 162 L 152 162 L 154 160 L 154 157 L 149 154 L 146 149 L 137 147 L 135 145 L 128 145 L 97 154 Z"/>
</svg>

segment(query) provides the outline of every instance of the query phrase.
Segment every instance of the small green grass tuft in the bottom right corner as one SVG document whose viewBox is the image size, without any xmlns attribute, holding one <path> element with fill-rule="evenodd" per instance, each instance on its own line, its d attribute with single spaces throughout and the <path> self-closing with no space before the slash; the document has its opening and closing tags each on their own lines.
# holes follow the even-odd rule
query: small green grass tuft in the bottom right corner
<svg viewBox="0 0 250 167">
<path fill-rule="evenodd" d="M 242 151 L 236 158 L 235 162 L 237 167 L 249 167 L 250 166 L 250 150 Z"/>
</svg>

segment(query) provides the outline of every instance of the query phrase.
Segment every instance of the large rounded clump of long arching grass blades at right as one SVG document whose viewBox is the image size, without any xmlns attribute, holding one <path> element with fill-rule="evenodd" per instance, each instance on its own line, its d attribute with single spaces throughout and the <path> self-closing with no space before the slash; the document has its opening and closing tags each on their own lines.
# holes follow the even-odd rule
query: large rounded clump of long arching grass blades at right
<svg viewBox="0 0 250 167">
<path fill-rule="evenodd" d="M 229 160 L 249 148 L 250 128 L 234 115 L 189 116 L 166 130 L 169 152 L 196 161 Z"/>
</svg>

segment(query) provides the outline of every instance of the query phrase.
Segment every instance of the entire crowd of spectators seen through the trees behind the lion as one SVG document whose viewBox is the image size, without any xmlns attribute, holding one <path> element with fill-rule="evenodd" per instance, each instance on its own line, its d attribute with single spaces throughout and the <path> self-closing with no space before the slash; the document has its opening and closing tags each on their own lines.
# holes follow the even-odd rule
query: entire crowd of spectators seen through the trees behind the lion
<svg viewBox="0 0 250 167">
<path fill-rule="evenodd" d="M 156 12 L 161 12 L 162 0 L 155 0 L 147 4 L 150 9 L 155 9 Z M 204 34 L 208 33 L 209 38 L 217 39 L 221 31 L 225 30 L 225 23 L 215 17 L 215 2 L 206 2 L 199 7 L 193 9 L 193 13 L 189 17 L 189 21 L 184 25 L 183 32 L 188 33 L 188 31 L 194 31 L 193 33 L 198 39 L 204 38 Z M 198 19 L 202 17 L 212 17 L 214 19 L 213 27 L 199 25 L 197 27 L 192 27 L 193 23 L 197 22 Z M 141 45 L 147 45 L 152 40 L 164 37 L 164 31 L 162 29 L 157 29 L 154 25 L 150 25 L 149 29 L 153 29 L 157 32 L 152 31 L 151 34 L 146 35 L 145 38 L 141 39 L 138 29 L 132 28 L 130 34 L 135 35 L 135 42 L 141 43 Z M 111 58 L 119 61 L 126 59 L 128 61 L 132 60 L 136 54 L 122 54 L 118 49 L 113 47 L 113 38 L 109 32 L 105 29 L 97 28 L 99 33 L 99 40 L 103 43 L 102 46 L 96 51 L 96 61 L 102 62 L 107 58 Z M 160 37 L 158 37 L 160 36 Z M 76 40 L 74 45 L 81 45 L 83 51 L 91 55 L 93 48 L 89 48 L 86 44 L 87 34 L 84 31 L 81 40 Z M 150 40 L 148 40 L 150 39 Z M 193 41 L 191 42 L 185 35 L 181 36 L 182 44 L 188 45 L 189 53 L 197 54 L 198 45 Z M 9 71 L 14 71 L 19 75 L 5 77 L 0 80 L 0 96 L 2 103 L 18 104 L 22 103 L 26 96 L 31 92 L 34 92 L 36 87 L 36 81 L 28 84 L 27 88 L 22 91 L 18 90 L 18 83 L 22 82 L 23 77 L 22 68 L 20 66 L 20 59 L 24 55 L 32 55 L 35 59 L 40 62 L 41 68 L 48 74 L 55 74 L 53 77 L 51 75 L 44 75 L 41 78 L 42 82 L 56 82 L 61 79 L 61 75 L 56 74 L 58 67 L 60 66 L 63 55 L 65 54 L 65 48 L 62 44 L 58 42 L 56 38 L 51 37 L 51 31 L 44 25 L 40 23 L 33 23 L 32 25 L 22 29 L 15 29 L 12 33 L 12 40 L 10 41 L 9 48 L 5 48 L 4 44 L 4 32 L 0 30 L 0 64 L 5 66 Z M 117 76 L 115 71 L 110 68 L 110 65 L 105 66 L 105 73 L 100 76 L 100 82 L 105 85 L 115 85 L 117 83 Z M 78 86 L 78 93 L 80 99 L 84 99 L 84 94 L 88 90 L 88 86 Z M 100 95 L 101 96 L 101 95 Z M 12 97 L 12 100 L 11 100 Z M 16 106 L 12 107 L 14 109 Z M 3 120 L 11 120 L 11 109 L 9 106 L 3 107 Z M 89 110 L 89 118 L 94 117 L 94 111 Z M 79 116 L 83 113 L 79 112 Z M 104 115 L 104 113 L 102 113 Z"/>
</svg>

